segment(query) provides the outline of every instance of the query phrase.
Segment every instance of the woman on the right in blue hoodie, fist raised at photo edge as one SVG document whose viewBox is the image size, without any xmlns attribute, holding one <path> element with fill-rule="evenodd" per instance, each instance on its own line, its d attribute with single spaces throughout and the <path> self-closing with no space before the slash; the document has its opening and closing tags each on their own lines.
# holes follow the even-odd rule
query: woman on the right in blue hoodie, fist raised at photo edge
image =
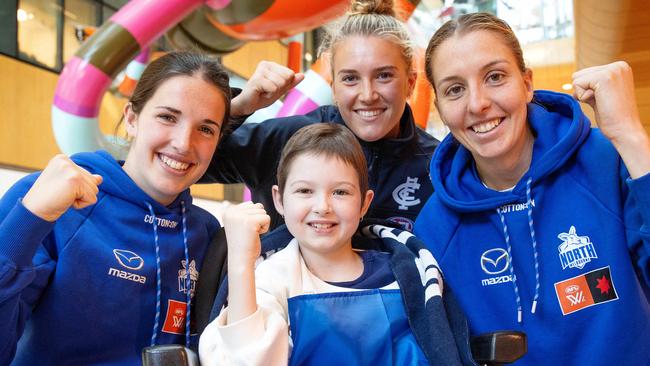
<svg viewBox="0 0 650 366">
<path fill-rule="evenodd" d="M 458 62 L 463 60 L 463 62 Z M 468 14 L 429 42 L 426 72 L 451 134 L 415 233 L 474 334 L 528 335 L 528 365 L 650 362 L 650 138 L 624 62 L 533 91 L 502 20 Z"/>
</svg>

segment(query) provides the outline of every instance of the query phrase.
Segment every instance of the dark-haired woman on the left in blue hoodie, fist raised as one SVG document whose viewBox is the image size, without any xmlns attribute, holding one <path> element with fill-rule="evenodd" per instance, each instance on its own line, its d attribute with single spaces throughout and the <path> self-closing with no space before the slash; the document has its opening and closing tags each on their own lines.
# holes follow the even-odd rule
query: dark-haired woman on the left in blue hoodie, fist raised
<svg viewBox="0 0 650 366">
<path fill-rule="evenodd" d="M 192 205 L 228 119 L 215 61 L 152 62 L 124 110 L 124 162 L 54 157 L 0 201 L 0 364 L 140 364 L 192 342 L 188 310 L 219 223 Z"/>
</svg>

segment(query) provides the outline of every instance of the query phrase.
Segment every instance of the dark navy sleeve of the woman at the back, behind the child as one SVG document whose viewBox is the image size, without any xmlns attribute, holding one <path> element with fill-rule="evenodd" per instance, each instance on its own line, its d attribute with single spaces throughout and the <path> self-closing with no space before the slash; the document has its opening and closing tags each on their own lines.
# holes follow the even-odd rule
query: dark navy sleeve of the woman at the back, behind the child
<svg viewBox="0 0 650 366">
<path fill-rule="evenodd" d="M 245 183 L 257 187 L 275 178 L 282 148 L 301 127 L 323 122 L 319 108 L 304 116 L 245 123 L 226 136 L 212 158 L 201 183 Z"/>
</svg>

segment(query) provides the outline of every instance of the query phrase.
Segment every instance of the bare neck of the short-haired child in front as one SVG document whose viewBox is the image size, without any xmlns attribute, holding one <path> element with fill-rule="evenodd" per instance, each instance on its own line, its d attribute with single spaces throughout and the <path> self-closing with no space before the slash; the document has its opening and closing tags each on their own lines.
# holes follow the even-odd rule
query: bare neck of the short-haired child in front
<svg viewBox="0 0 650 366">
<path fill-rule="evenodd" d="M 300 248 L 300 254 L 307 268 L 326 282 L 353 281 L 363 273 L 363 261 L 352 246 L 336 253 L 317 253 Z"/>
</svg>

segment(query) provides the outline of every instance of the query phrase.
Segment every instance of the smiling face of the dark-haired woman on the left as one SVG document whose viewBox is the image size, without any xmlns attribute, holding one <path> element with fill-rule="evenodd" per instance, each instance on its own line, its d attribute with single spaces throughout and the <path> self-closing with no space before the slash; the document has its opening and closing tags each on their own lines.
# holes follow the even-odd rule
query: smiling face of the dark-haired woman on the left
<svg viewBox="0 0 650 366">
<path fill-rule="evenodd" d="M 163 205 L 194 184 L 210 164 L 225 113 L 223 93 L 199 76 L 175 76 L 136 115 L 127 105 L 133 139 L 124 170 Z"/>
</svg>

